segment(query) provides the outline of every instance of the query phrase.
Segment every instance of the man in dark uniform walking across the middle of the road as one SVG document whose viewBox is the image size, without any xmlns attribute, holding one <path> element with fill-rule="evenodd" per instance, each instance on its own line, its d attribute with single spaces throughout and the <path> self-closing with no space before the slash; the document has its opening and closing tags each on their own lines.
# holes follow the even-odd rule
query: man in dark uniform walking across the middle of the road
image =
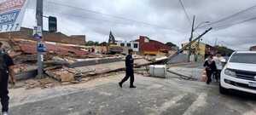
<svg viewBox="0 0 256 115">
<path fill-rule="evenodd" d="M 125 83 L 125 81 L 127 81 L 128 78 L 130 78 L 130 88 L 135 89 L 136 86 L 133 85 L 134 83 L 134 71 L 133 71 L 134 60 L 132 58 L 133 50 L 129 49 L 128 53 L 129 55 L 127 55 L 125 58 L 126 75 L 125 75 L 125 78 L 123 78 L 123 80 L 119 82 L 119 86 L 122 88 L 123 83 Z"/>
</svg>

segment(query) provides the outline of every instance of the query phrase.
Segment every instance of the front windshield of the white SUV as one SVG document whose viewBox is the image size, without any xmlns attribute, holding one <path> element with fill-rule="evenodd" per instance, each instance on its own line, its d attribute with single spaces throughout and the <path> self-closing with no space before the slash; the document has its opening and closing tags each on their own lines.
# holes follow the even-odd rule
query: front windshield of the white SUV
<svg viewBox="0 0 256 115">
<path fill-rule="evenodd" d="M 234 54 L 232 55 L 230 62 L 256 64 L 256 54 Z"/>
</svg>

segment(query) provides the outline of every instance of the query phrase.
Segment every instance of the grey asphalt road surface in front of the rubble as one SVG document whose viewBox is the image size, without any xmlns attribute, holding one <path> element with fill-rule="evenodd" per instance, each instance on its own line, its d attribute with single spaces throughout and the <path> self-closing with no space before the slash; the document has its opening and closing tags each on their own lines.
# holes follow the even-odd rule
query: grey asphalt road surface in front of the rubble
<svg viewBox="0 0 256 115">
<path fill-rule="evenodd" d="M 147 78 L 136 75 L 137 89 L 109 77 L 90 88 L 68 90 L 51 98 L 25 102 L 10 108 L 11 115 L 255 115 L 255 95 L 220 95 L 217 83 L 183 81 L 177 78 Z M 75 89 L 75 86 L 73 86 Z M 58 92 L 58 89 L 52 90 Z M 26 93 L 26 92 L 24 92 Z M 40 94 L 38 94 L 39 96 Z M 33 95 L 37 96 L 37 95 Z M 49 95 L 44 95 L 45 97 Z"/>
</svg>

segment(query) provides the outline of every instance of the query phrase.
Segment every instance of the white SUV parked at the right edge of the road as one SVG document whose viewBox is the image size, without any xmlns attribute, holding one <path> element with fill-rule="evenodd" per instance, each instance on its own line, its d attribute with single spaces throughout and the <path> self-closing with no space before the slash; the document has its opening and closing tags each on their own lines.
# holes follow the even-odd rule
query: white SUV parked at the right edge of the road
<svg viewBox="0 0 256 115">
<path fill-rule="evenodd" d="M 221 72 L 219 92 L 225 94 L 228 89 L 256 94 L 255 51 L 237 51 L 230 56 Z"/>
</svg>

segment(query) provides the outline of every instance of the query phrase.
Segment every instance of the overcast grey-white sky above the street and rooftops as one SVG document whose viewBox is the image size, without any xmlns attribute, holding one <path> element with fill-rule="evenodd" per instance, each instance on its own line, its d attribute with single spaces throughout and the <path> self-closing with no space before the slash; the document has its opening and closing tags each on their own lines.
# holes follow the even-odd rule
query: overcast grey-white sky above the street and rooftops
<svg viewBox="0 0 256 115">
<path fill-rule="evenodd" d="M 35 26 L 35 1 L 29 2 L 23 26 Z M 210 25 L 215 29 L 203 37 L 205 43 L 217 41 L 237 50 L 256 45 L 256 20 L 251 20 L 256 17 L 256 8 L 248 9 L 256 5 L 255 0 L 183 0 L 183 5 L 189 19 L 179 0 L 44 0 L 44 15 L 58 18 L 59 32 L 85 34 L 87 41 L 107 41 L 111 30 L 115 37 L 126 41 L 144 35 L 180 46 L 189 40 L 195 14 L 195 26 L 204 21 L 215 22 Z M 222 20 L 244 9 L 248 10 Z M 222 21 L 216 22 L 218 20 Z M 243 20 L 250 21 L 234 25 Z M 44 29 L 47 29 L 47 21 L 44 22 Z M 210 26 L 200 28 L 196 33 Z"/>
</svg>

